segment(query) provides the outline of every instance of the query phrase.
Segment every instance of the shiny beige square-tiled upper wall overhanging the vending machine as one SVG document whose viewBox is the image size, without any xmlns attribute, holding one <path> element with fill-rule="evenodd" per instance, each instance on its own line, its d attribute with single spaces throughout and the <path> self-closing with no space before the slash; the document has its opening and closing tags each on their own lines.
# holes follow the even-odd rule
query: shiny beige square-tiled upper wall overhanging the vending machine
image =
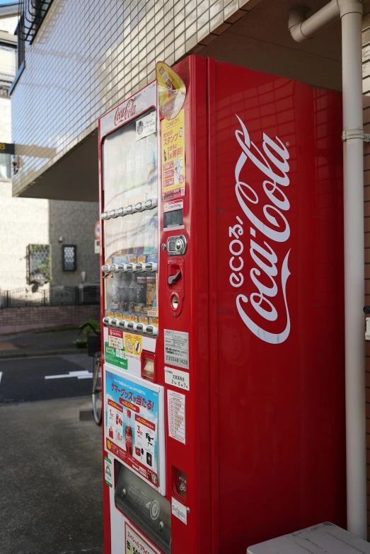
<svg viewBox="0 0 370 554">
<path fill-rule="evenodd" d="M 261 0 L 54 0 L 12 93 L 18 195 L 154 79 L 155 64 L 199 52 Z"/>
</svg>

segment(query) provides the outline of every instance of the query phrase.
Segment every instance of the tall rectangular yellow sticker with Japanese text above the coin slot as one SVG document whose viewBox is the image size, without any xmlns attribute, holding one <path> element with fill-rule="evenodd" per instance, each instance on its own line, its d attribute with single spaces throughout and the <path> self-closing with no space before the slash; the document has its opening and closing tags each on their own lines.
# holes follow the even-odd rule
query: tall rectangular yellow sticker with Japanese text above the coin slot
<svg viewBox="0 0 370 554">
<path fill-rule="evenodd" d="M 163 200 L 185 196 L 185 117 L 161 121 Z"/>
</svg>

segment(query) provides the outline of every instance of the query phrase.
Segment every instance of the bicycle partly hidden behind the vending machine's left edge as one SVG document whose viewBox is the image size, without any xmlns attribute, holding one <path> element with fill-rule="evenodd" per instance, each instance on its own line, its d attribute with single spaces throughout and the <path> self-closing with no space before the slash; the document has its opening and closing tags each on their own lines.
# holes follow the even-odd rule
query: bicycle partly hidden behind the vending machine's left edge
<svg viewBox="0 0 370 554">
<path fill-rule="evenodd" d="M 101 334 L 91 323 L 83 323 L 79 327 L 79 335 L 83 329 L 90 327 L 87 331 L 87 353 L 93 358 L 93 416 L 96 425 L 101 425 L 102 422 L 102 381 L 101 381 Z"/>
</svg>

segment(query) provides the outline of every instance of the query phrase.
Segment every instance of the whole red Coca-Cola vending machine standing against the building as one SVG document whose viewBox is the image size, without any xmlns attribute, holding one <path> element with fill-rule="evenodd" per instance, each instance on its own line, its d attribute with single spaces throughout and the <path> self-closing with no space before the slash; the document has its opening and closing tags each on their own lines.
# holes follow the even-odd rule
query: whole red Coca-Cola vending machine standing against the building
<svg viewBox="0 0 370 554">
<path fill-rule="evenodd" d="M 341 97 L 174 70 L 99 121 L 105 554 L 244 554 L 346 524 Z"/>
</svg>

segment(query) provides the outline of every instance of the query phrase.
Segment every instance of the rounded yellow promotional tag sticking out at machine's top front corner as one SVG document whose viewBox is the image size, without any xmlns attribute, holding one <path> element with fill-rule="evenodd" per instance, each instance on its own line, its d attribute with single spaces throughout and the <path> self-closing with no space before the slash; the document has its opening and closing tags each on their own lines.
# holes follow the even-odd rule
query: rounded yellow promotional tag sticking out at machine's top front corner
<svg viewBox="0 0 370 554">
<path fill-rule="evenodd" d="M 156 74 L 159 109 L 166 120 L 172 120 L 183 108 L 186 96 L 185 83 L 176 71 L 164 62 L 158 62 Z"/>
</svg>

